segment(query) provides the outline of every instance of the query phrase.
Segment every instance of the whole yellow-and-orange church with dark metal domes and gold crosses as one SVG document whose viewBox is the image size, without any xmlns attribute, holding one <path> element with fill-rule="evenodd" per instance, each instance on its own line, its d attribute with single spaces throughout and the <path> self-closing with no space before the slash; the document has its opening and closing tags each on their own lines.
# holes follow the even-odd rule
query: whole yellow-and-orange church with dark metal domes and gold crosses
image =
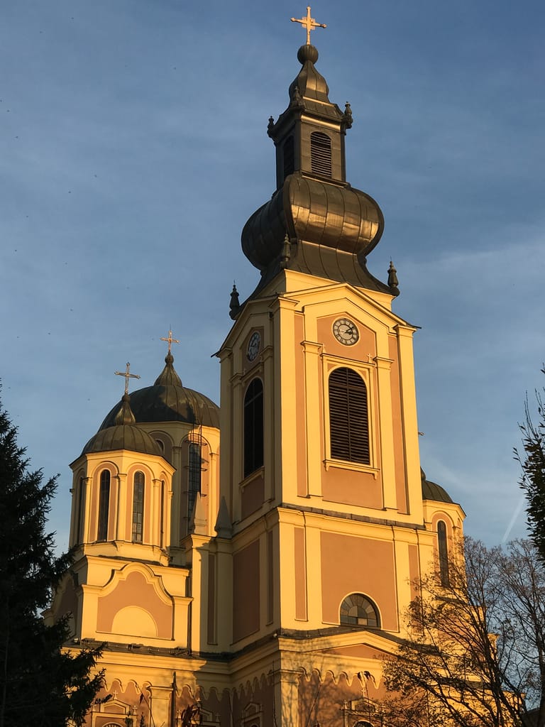
<svg viewBox="0 0 545 727">
<path fill-rule="evenodd" d="M 46 618 L 70 614 L 74 652 L 104 644 L 88 726 L 378 727 L 414 581 L 447 578 L 462 535 L 421 470 L 395 268 L 366 268 L 384 218 L 346 179 L 352 111 L 329 99 L 310 8 L 298 22 L 267 129 L 276 189 L 242 231 L 257 285 L 233 287 L 216 354 L 221 406 L 182 383 L 169 332 L 156 381 L 136 388 L 127 366 L 74 453 L 76 556 Z"/>
</svg>

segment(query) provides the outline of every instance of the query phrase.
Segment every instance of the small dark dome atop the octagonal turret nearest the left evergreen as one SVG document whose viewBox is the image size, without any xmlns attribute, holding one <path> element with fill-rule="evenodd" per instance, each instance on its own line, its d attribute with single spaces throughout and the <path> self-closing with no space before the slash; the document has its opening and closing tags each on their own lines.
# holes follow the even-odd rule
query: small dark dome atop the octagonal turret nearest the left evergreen
<svg viewBox="0 0 545 727">
<path fill-rule="evenodd" d="M 137 427 L 128 394 L 124 394 L 121 399 L 121 407 L 118 404 L 115 409 L 116 415 L 113 419 L 113 425 L 101 427 L 94 437 L 86 443 L 81 454 L 128 449 L 129 451 L 155 454 L 157 457 L 162 457 L 162 452 L 155 439 L 143 429 Z"/>
</svg>

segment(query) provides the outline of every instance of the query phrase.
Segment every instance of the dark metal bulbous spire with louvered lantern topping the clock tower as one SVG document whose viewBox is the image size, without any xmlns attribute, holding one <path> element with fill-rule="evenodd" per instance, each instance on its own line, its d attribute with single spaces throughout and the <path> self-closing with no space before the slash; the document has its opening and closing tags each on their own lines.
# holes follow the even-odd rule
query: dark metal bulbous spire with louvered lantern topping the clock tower
<svg viewBox="0 0 545 727">
<path fill-rule="evenodd" d="M 314 46 L 302 46 L 297 57 L 302 68 L 289 87 L 288 108 L 267 129 L 276 147 L 277 189 L 242 232 L 243 252 L 262 273 L 254 295 L 284 268 L 395 295 L 366 268 L 384 217 L 371 196 L 346 181 L 350 105 L 343 112 L 329 100 Z"/>
</svg>

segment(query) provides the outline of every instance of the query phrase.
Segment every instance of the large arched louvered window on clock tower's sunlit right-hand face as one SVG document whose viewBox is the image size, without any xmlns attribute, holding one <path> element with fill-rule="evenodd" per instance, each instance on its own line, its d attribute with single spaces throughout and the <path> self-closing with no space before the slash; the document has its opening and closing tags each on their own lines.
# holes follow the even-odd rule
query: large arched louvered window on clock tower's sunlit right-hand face
<svg viewBox="0 0 545 727">
<path fill-rule="evenodd" d="M 352 369 L 335 369 L 329 376 L 331 459 L 371 464 L 367 387 Z"/>
</svg>

